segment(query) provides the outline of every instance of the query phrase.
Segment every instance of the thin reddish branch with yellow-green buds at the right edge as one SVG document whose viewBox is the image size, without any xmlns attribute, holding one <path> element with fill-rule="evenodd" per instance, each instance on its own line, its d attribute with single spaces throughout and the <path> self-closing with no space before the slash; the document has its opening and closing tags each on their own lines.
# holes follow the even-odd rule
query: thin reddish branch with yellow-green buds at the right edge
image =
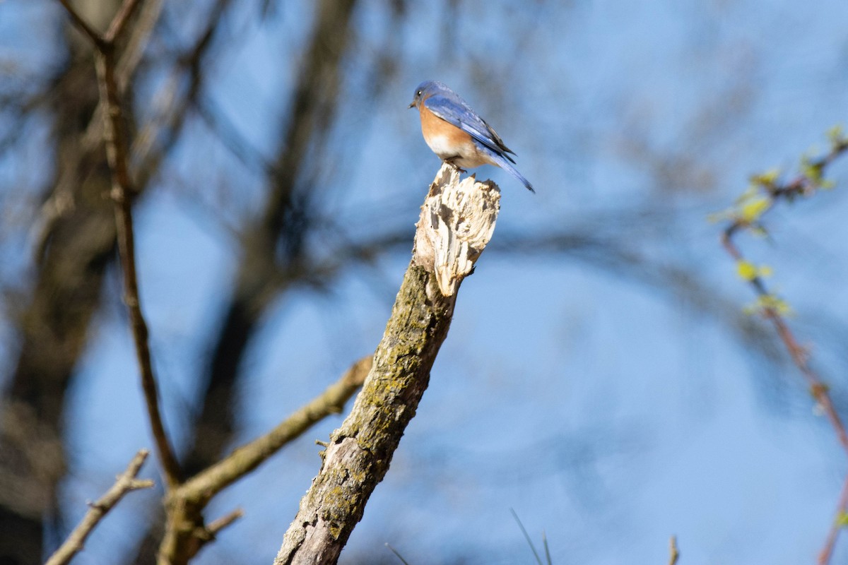
<svg viewBox="0 0 848 565">
<path fill-rule="evenodd" d="M 758 217 L 774 208 L 781 200 L 791 200 L 794 197 L 811 195 L 817 188 L 822 186 L 825 169 L 836 158 L 848 152 L 848 139 L 840 136 L 835 137 L 830 152 L 817 161 L 806 163 L 805 171 L 789 183 L 778 185 L 773 180 L 757 181 L 767 194 L 766 205 L 762 213 L 758 214 Z M 737 264 L 745 262 L 745 256 L 739 251 L 739 247 L 734 242 L 734 235 L 741 230 L 745 230 L 745 228 L 752 227 L 753 224 L 754 222 L 750 219 L 740 216 L 728 224 L 722 233 L 722 246 L 724 246 L 730 257 L 734 258 Z M 756 295 L 762 299 L 763 316 L 773 324 L 774 329 L 778 332 L 780 340 L 784 342 L 786 351 L 792 357 L 792 362 L 795 363 L 795 366 L 801 371 L 804 379 L 806 379 L 807 384 L 810 386 L 810 393 L 816 399 L 818 406 L 822 407 L 823 413 L 827 416 L 830 425 L 836 432 L 842 448 L 848 453 L 848 433 L 845 431 L 845 424 L 842 422 L 842 418 L 840 418 L 836 407 L 834 407 L 834 402 L 828 391 L 828 385 L 824 383 L 817 372 L 810 366 L 809 353 L 798 343 L 798 340 L 795 338 L 792 330 L 789 329 L 789 324 L 786 323 L 778 307 L 773 301 L 767 300 L 772 295 L 768 291 L 762 276 L 755 274 L 755 276 L 751 277 L 750 286 L 754 289 Z M 842 518 L 845 516 L 846 511 L 848 511 L 848 476 L 846 476 L 845 485 L 842 487 L 842 493 L 837 505 L 836 518 L 834 518 L 828 538 L 818 557 L 819 565 L 826 565 L 830 561 L 836 538 L 843 526 Z"/>
</svg>

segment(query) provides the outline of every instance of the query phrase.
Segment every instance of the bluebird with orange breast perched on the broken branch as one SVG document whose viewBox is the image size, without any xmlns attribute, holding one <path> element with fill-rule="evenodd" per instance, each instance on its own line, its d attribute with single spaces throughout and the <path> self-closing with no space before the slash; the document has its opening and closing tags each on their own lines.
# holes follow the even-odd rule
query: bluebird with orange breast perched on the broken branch
<svg viewBox="0 0 848 565">
<path fill-rule="evenodd" d="M 515 161 L 507 153 L 516 153 L 506 147 L 492 127 L 447 85 L 438 80 L 422 82 L 410 103 L 410 108 L 413 106 L 421 114 L 424 141 L 445 163 L 457 169 L 492 164 L 535 192 L 527 179 L 512 166 Z"/>
</svg>

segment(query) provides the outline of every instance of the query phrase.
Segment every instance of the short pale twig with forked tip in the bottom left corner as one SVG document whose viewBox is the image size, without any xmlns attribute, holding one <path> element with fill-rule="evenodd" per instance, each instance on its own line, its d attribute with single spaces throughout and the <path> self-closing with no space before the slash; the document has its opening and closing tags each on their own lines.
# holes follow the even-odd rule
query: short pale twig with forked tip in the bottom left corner
<svg viewBox="0 0 848 565">
<path fill-rule="evenodd" d="M 46 565 L 64 565 L 80 551 L 85 545 L 86 538 L 92 533 L 95 526 L 98 525 L 106 512 L 109 512 L 126 493 L 131 490 L 151 489 L 153 481 L 150 479 L 136 479 L 138 471 L 141 470 L 144 460 L 147 459 L 149 451 L 142 449 L 138 451 L 136 457 L 127 466 L 126 471 L 118 475 L 112 488 L 106 491 L 106 494 L 101 496 L 98 501 L 89 503 L 88 512 L 82 518 L 82 521 L 76 526 L 74 531 L 70 533 L 64 543 L 59 546 L 52 556 L 47 560 Z"/>
</svg>

